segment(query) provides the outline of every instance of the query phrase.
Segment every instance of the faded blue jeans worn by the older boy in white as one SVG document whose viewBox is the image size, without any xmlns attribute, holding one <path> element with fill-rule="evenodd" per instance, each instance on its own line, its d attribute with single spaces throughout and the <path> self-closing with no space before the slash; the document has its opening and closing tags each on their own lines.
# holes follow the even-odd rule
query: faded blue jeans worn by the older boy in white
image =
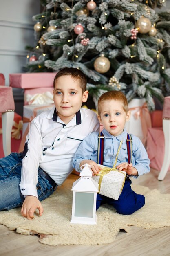
<svg viewBox="0 0 170 256">
<path fill-rule="evenodd" d="M 22 206 L 25 200 L 20 192 L 22 153 L 11 153 L 0 158 L 0 211 Z M 38 170 L 42 170 L 40 167 Z M 38 174 L 38 199 L 48 198 L 53 192 L 49 181 Z"/>
</svg>

